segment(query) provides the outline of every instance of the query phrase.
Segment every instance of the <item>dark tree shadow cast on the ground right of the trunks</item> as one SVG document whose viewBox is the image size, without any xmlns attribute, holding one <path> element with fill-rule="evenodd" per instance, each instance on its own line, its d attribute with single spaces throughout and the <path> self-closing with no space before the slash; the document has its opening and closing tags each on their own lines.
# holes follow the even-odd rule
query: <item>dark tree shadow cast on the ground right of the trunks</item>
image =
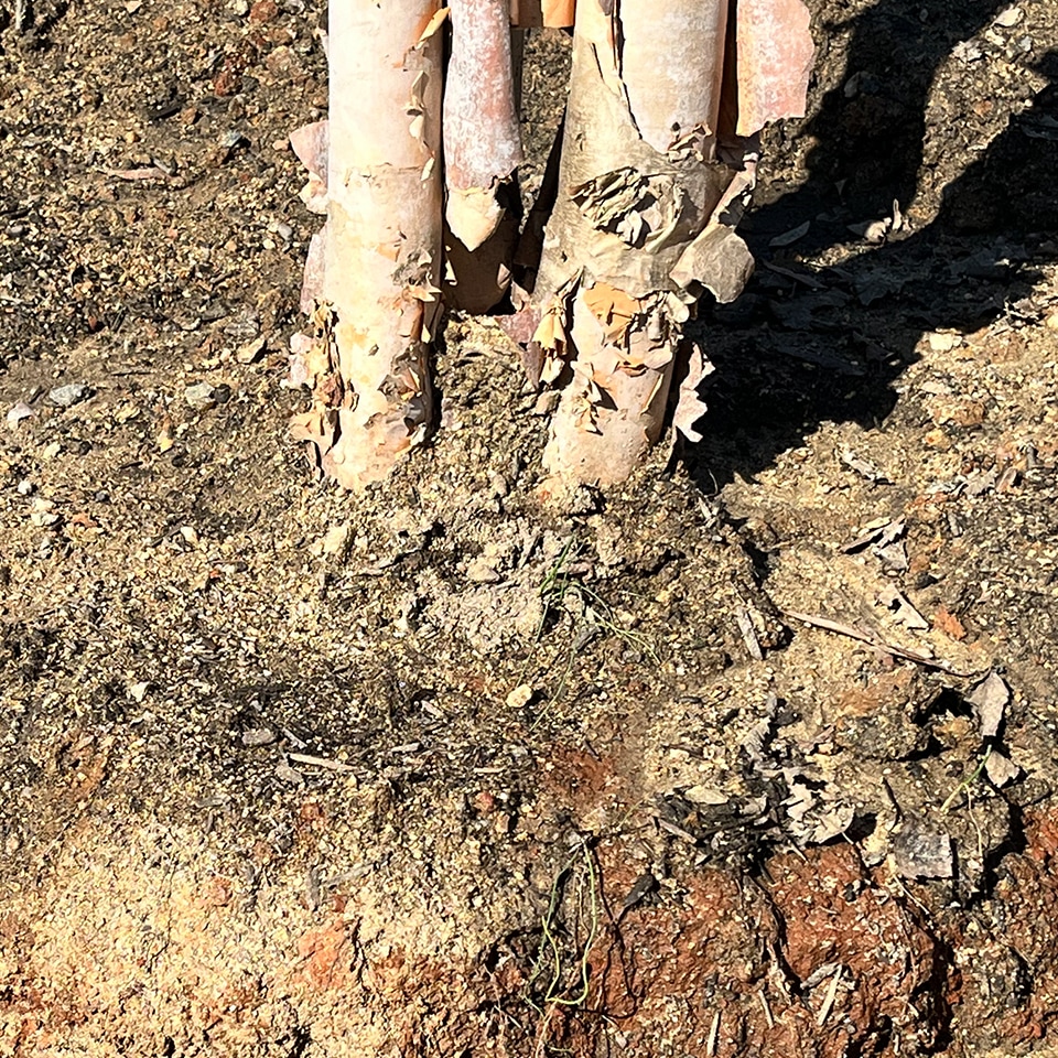
<svg viewBox="0 0 1058 1058">
<path fill-rule="evenodd" d="M 814 141 L 808 180 L 765 188 L 769 201 L 747 218 L 756 276 L 733 305 L 701 307 L 694 336 L 716 374 L 705 392 L 705 439 L 688 449 L 687 463 L 703 489 L 752 477 L 823 422 L 884 431 L 924 333 L 965 334 L 995 322 L 1058 257 L 1050 237 L 1058 230 L 1054 83 L 944 188 L 930 224 L 894 233 L 884 246 L 833 251 L 856 244 L 851 222 L 914 199 L 937 68 L 1002 7 L 879 0 L 851 28 L 843 83 L 800 133 Z M 818 40 L 841 32 L 819 29 Z M 1058 80 L 1058 52 L 1025 65 Z M 974 101 L 986 104 L 983 94 L 962 104 Z M 769 246 L 805 222 L 792 249 L 840 263 L 810 269 Z"/>
</svg>

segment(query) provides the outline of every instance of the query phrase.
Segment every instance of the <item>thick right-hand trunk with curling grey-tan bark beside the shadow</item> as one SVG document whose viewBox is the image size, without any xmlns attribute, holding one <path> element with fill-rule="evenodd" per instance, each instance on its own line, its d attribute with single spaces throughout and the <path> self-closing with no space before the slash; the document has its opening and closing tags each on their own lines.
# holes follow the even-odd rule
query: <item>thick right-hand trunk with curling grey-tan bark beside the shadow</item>
<svg viewBox="0 0 1058 1058">
<path fill-rule="evenodd" d="M 678 360 L 676 423 L 698 436 L 710 368 L 683 323 L 703 290 L 731 301 L 752 272 L 734 231 L 752 137 L 803 112 L 811 56 L 800 0 L 579 0 L 536 283 L 539 370 L 563 387 L 544 454 L 554 477 L 626 478 L 661 433 Z"/>
</svg>

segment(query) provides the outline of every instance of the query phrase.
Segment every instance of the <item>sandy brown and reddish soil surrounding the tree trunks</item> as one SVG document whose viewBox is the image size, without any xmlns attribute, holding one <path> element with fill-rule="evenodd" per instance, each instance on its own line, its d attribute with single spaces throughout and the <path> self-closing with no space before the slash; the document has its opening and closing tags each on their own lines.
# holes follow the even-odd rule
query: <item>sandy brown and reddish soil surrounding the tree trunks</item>
<svg viewBox="0 0 1058 1058">
<path fill-rule="evenodd" d="M 812 12 L 705 440 L 565 509 L 490 320 L 287 439 L 320 11 L 0 14 L 0 1054 L 1058 1050 L 1058 13 Z"/>
</svg>

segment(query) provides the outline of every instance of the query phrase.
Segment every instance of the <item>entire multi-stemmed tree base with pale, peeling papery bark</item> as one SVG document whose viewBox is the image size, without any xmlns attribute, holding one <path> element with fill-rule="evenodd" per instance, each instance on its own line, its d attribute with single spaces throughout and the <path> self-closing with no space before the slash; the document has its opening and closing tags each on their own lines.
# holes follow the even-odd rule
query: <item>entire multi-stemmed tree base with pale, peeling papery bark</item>
<svg viewBox="0 0 1058 1058">
<path fill-rule="evenodd" d="M 517 222 L 505 196 L 521 161 L 509 21 L 575 15 L 554 208 L 542 258 L 520 262 L 541 317 L 527 363 L 562 393 L 552 477 L 622 481 L 659 439 L 673 379 L 671 421 L 698 436 L 710 366 L 683 324 L 703 291 L 731 301 L 752 271 L 734 229 L 756 133 L 802 112 L 808 14 L 801 0 L 440 3 L 331 7 L 328 127 L 292 137 L 315 171 L 310 205 L 327 213 L 303 296 L 314 335 L 295 357 L 313 407 L 293 433 L 349 488 L 385 477 L 425 436 L 445 248 L 461 307 L 490 307 L 509 278 Z"/>
</svg>

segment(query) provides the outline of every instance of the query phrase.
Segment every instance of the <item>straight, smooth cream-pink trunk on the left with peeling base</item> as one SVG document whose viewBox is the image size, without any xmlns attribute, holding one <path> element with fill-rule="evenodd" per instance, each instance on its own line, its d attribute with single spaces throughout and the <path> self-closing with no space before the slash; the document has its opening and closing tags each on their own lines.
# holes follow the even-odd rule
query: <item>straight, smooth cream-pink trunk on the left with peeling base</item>
<svg viewBox="0 0 1058 1058">
<path fill-rule="evenodd" d="M 443 17 L 440 0 L 330 8 L 322 300 L 303 365 L 313 408 L 292 434 L 347 488 L 385 477 L 430 423 Z"/>
</svg>

